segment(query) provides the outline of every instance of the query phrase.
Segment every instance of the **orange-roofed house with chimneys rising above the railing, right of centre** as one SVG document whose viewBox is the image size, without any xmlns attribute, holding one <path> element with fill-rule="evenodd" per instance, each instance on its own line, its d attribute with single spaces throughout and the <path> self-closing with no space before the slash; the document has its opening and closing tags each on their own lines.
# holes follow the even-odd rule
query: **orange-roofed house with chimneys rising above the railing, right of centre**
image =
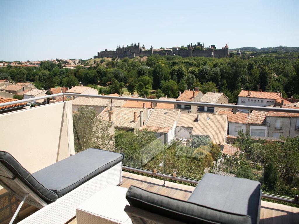
<svg viewBox="0 0 299 224">
<path fill-rule="evenodd" d="M 179 92 L 179 97 L 176 99 L 178 101 L 186 101 L 186 104 L 177 104 L 175 105 L 175 109 L 180 109 L 182 112 L 193 112 L 196 113 L 197 107 L 193 105 L 188 105 L 187 102 L 199 102 L 200 99 L 205 94 L 199 91 L 199 88 L 195 88 L 194 90 L 185 90 L 184 93 L 181 94 Z"/>
</svg>

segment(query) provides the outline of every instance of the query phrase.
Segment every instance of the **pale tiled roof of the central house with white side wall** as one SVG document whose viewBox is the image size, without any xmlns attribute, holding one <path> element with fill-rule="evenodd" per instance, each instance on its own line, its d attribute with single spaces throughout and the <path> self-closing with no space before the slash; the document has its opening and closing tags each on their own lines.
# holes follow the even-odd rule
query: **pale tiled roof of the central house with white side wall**
<svg viewBox="0 0 299 224">
<path fill-rule="evenodd" d="M 165 114 L 165 112 L 167 112 L 167 114 Z M 172 129 L 179 120 L 180 114 L 181 111 L 175 109 L 154 109 L 144 125 L 148 127 Z"/>
</svg>

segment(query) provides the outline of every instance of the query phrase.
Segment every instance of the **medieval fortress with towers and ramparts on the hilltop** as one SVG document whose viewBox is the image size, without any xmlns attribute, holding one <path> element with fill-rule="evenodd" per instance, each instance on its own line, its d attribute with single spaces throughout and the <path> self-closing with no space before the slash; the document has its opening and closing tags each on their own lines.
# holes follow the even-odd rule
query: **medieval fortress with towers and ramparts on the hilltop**
<svg viewBox="0 0 299 224">
<path fill-rule="evenodd" d="M 138 43 L 138 45 L 133 43 L 130 46 L 126 47 L 116 47 L 116 50 L 107 50 L 100 51 L 97 53 L 94 58 L 134 58 L 136 56 L 150 56 L 153 54 L 158 54 L 160 56 L 167 56 L 167 55 L 179 55 L 182 57 L 211 57 L 211 58 L 224 58 L 228 56 L 228 45 L 226 44 L 225 47 L 222 49 L 216 49 L 215 45 L 211 45 L 208 48 L 205 48 L 204 43 L 198 42 L 197 45 L 189 44 L 184 48 L 181 47 L 172 47 L 167 49 L 153 49 L 151 46 L 149 50 L 145 49 L 145 46 L 142 47 Z M 237 52 L 239 56 L 240 53 Z"/>
</svg>

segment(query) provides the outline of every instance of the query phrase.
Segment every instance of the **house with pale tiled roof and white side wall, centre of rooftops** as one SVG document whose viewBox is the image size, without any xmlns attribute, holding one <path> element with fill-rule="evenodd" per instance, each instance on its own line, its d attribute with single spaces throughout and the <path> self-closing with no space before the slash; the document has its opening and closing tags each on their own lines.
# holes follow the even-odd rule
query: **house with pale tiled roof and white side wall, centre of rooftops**
<svg viewBox="0 0 299 224">
<path fill-rule="evenodd" d="M 180 110 L 156 108 L 139 130 L 156 132 L 157 137 L 164 135 L 165 142 L 170 143 L 175 138 L 176 124 L 180 116 Z"/>
</svg>

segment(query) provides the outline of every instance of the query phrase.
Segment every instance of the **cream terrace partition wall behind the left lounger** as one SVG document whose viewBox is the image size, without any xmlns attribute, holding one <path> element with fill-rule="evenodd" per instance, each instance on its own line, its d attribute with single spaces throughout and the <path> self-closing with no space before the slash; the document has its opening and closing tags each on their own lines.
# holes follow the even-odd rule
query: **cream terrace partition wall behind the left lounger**
<svg viewBox="0 0 299 224">
<path fill-rule="evenodd" d="M 30 173 L 75 154 L 71 101 L 0 115 L 1 150 Z"/>
</svg>

